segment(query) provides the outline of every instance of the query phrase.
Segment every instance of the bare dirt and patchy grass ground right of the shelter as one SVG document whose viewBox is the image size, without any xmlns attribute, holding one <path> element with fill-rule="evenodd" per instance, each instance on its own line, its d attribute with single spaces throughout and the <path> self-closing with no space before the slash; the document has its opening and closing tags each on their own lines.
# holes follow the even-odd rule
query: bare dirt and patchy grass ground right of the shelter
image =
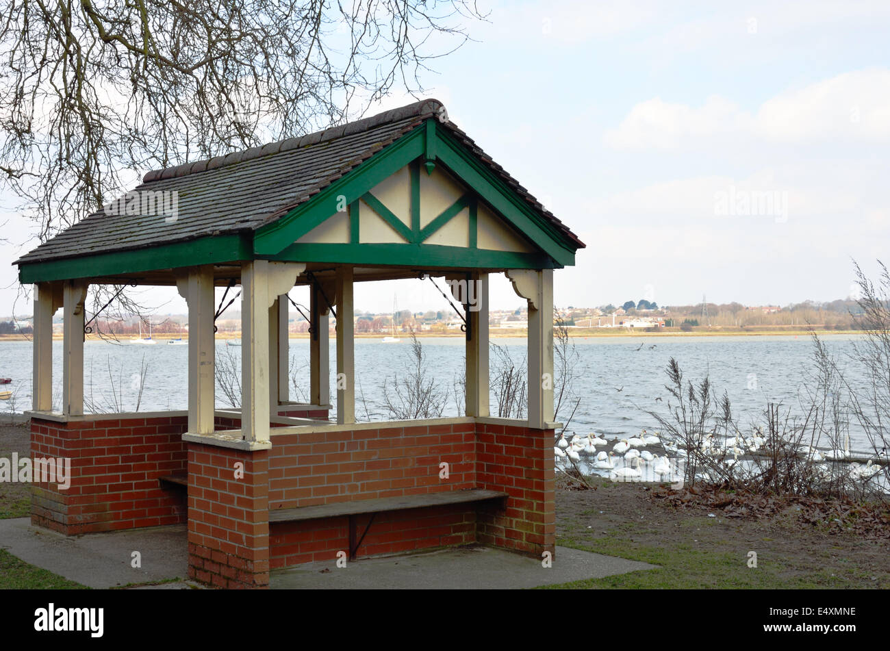
<svg viewBox="0 0 890 651">
<path fill-rule="evenodd" d="M 650 577 L 640 587 L 890 588 L 890 523 L 866 538 L 833 520 L 805 522 L 793 503 L 768 518 L 731 518 L 694 501 L 677 508 L 658 496 L 658 486 L 608 479 L 594 485 L 557 490 L 557 537 L 667 567 L 662 583 Z M 759 573 L 748 572 L 756 569 L 752 551 Z"/>
</svg>

